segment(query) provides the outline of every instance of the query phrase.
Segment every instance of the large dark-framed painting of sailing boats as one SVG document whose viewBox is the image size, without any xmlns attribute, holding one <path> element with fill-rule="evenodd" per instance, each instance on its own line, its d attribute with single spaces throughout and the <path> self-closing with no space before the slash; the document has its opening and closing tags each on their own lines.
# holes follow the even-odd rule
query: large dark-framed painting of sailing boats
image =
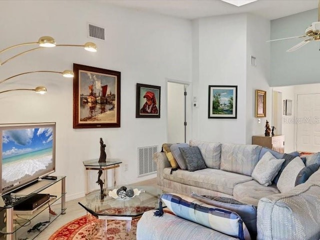
<svg viewBox="0 0 320 240">
<path fill-rule="evenodd" d="M 120 127 L 120 72 L 76 63 L 73 72 L 73 128 Z"/>
</svg>

